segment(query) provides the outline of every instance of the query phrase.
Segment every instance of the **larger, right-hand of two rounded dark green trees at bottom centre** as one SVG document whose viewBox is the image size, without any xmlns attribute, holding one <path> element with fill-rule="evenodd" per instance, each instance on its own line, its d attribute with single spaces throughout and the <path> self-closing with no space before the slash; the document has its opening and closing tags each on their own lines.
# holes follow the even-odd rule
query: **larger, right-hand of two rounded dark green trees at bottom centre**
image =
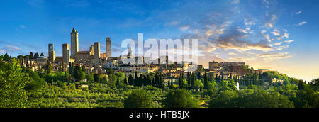
<svg viewBox="0 0 319 122">
<path fill-rule="evenodd" d="M 164 104 L 167 108 L 197 108 L 197 101 L 186 89 L 176 89 L 166 95 Z"/>
</svg>

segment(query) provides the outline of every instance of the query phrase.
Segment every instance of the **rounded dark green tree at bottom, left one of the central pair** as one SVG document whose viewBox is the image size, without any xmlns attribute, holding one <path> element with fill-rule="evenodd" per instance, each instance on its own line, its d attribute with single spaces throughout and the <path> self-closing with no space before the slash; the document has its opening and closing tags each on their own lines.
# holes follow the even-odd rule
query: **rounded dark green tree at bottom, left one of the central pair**
<svg viewBox="0 0 319 122">
<path fill-rule="evenodd" d="M 145 90 L 133 90 L 124 100 L 125 108 L 152 108 L 152 96 Z"/>
</svg>

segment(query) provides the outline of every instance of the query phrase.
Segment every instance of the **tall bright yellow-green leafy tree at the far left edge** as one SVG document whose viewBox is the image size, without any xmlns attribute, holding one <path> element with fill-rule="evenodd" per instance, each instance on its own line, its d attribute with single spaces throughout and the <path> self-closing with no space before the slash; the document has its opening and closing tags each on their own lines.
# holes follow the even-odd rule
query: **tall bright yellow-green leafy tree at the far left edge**
<svg viewBox="0 0 319 122">
<path fill-rule="evenodd" d="M 0 108 L 24 108 L 27 104 L 23 88 L 30 78 L 21 73 L 18 61 L 4 62 L 0 56 Z"/>
</svg>

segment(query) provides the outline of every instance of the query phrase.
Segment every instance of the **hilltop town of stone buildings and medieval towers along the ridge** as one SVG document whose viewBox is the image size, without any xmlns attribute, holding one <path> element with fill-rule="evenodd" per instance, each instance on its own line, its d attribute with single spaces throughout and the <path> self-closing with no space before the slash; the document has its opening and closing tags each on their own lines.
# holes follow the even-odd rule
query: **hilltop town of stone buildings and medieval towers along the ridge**
<svg viewBox="0 0 319 122">
<path fill-rule="evenodd" d="M 112 57 L 112 45 L 111 38 L 106 38 L 106 52 L 101 53 L 100 43 L 95 42 L 89 46 L 87 51 L 79 51 L 79 33 L 74 28 L 72 29 L 71 45 L 65 43 L 62 45 L 62 56 L 56 56 L 54 50 L 54 44 L 48 44 L 48 56 L 44 56 L 38 53 L 27 57 L 19 57 L 21 64 L 28 66 L 33 71 L 42 70 L 47 62 L 50 63 L 52 71 L 61 72 L 67 71 L 72 65 L 84 67 L 87 74 L 97 73 L 107 76 L 107 69 L 113 68 L 114 72 L 123 72 L 128 77 L 129 74 L 148 74 L 148 73 L 162 73 L 164 74 L 164 82 L 169 79 L 174 81 L 179 79 L 182 75 L 186 77 L 189 72 L 189 67 L 192 67 L 193 62 L 182 62 L 182 63 L 169 63 L 168 56 L 160 57 L 157 59 L 158 63 L 147 63 L 152 62 L 148 57 L 134 57 L 132 55 L 131 48 L 128 48 L 127 55 L 120 55 L 119 57 Z M 133 60 L 133 61 L 132 61 Z M 138 63 L 138 61 L 142 63 Z M 127 63 L 135 62 L 135 63 Z M 202 65 L 197 65 L 196 71 L 198 74 L 208 74 L 209 79 L 216 77 L 223 77 L 223 79 L 240 79 L 250 72 L 252 74 L 263 74 L 267 72 L 267 69 L 254 70 L 249 67 L 245 62 L 209 62 L 209 68 L 204 69 Z M 273 79 L 273 82 L 283 82 L 282 80 Z"/>
</svg>

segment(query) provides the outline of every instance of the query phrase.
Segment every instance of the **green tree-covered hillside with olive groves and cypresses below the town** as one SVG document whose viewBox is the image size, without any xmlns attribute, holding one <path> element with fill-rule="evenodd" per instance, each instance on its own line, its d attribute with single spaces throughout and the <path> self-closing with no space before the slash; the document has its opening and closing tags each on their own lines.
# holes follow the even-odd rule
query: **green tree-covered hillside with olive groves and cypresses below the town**
<svg viewBox="0 0 319 122">
<path fill-rule="evenodd" d="M 245 77 L 212 77 L 189 72 L 164 82 L 164 74 L 125 76 L 107 69 L 86 74 L 71 63 L 67 70 L 52 72 L 47 62 L 32 71 L 16 57 L 0 55 L 0 107 L 32 108 L 318 108 L 319 79 L 308 84 L 278 72 Z M 272 79 L 283 82 L 272 82 Z M 237 90 L 236 83 L 240 83 Z"/>
</svg>

